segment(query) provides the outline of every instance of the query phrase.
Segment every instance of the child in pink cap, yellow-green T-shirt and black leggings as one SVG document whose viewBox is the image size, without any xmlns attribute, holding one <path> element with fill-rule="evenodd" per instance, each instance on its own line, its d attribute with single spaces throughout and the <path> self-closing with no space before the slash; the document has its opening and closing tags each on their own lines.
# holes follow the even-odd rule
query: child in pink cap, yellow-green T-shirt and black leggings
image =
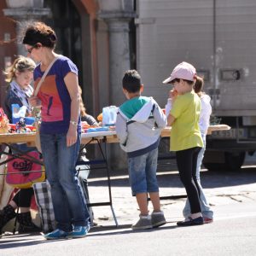
<svg viewBox="0 0 256 256">
<path fill-rule="evenodd" d="M 172 109 L 167 117 L 167 125 L 172 125 L 171 150 L 176 151 L 177 168 L 186 189 L 190 214 L 177 222 L 178 226 L 203 224 L 200 205 L 200 189 L 196 179 L 198 154 L 203 148 L 199 128 L 201 101 L 193 86 L 197 79 L 195 67 L 187 62 L 177 65 L 164 84 L 173 84 Z"/>
</svg>

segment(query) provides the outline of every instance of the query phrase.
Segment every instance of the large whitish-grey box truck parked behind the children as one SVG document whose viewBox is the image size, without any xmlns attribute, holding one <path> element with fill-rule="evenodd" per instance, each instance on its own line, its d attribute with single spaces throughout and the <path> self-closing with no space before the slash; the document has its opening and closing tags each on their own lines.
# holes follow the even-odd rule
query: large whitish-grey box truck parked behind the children
<svg viewBox="0 0 256 256">
<path fill-rule="evenodd" d="M 144 94 L 165 106 L 161 81 L 181 61 L 205 79 L 212 117 L 230 131 L 207 137 L 209 170 L 240 169 L 256 149 L 256 1 L 137 1 L 137 70 Z"/>
</svg>

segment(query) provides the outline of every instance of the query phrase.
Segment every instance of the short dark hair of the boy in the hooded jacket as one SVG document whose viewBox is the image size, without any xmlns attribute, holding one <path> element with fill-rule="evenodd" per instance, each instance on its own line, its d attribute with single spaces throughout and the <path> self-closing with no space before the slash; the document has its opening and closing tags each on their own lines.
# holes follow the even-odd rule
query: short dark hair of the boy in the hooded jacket
<svg viewBox="0 0 256 256">
<path fill-rule="evenodd" d="M 123 88 L 128 92 L 137 92 L 141 89 L 141 76 L 135 69 L 125 71 Z"/>
</svg>

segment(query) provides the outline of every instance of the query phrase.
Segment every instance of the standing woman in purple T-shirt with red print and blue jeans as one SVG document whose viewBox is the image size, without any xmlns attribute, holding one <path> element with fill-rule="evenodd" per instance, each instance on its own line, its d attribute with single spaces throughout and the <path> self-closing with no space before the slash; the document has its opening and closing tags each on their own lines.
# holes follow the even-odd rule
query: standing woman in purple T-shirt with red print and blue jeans
<svg viewBox="0 0 256 256">
<path fill-rule="evenodd" d="M 54 30 L 44 23 L 33 22 L 26 27 L 23 44 L 28 55 L 40 62 L 34 71 L 35 86 L 56 58 L 38 96 L 29 101 L 33 107 L 41 106 L 41 147 L 57 222 L 57 229 L 44 235 L 46 239 L 84 237 L 90 227 L 75 175 L 81 140 L 78 68 L 55 53 L 56 42 Z"/>
</svg>

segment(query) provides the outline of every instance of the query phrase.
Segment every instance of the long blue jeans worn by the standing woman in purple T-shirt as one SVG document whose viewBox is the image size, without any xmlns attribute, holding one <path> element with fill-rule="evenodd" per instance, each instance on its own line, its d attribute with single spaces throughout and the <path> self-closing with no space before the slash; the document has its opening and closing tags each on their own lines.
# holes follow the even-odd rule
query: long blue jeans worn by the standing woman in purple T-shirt
<svg viewBox="0 0 256 256">
<path fill-rule="evenodd" d="M 90 216 L 75 170 L 80 135 L 71 147 L 67 147 L 66 134 L 41 134 L 40 137 L 57 228 L 69 232 L 73 225 L 85 226 Z"/>
</svg>

